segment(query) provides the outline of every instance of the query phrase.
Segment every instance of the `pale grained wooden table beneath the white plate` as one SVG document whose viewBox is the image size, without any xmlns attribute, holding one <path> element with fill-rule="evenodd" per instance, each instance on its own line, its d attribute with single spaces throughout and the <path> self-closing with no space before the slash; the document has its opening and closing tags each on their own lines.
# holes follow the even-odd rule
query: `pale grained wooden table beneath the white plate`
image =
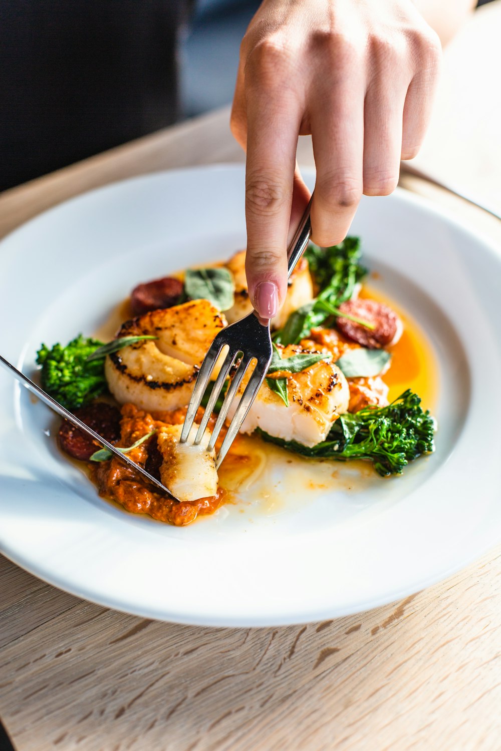
<svg viewBox="0 0 501 751">
<path fill-rule="evenodd" d="M 499 207 L 500 31 L 498 2 L 448 50 L 417 160 Z M 6 192 L 0 235 L 106 182 L 242 158 L 228 110 L 211 113 Z M 308 139 L 299 158 L 311 163 Z M 416 179 L 402 182 L 501 247 L 495 219 Z M 2 557 L 0 584 L 0 716 L 19 751 L 501 748 L 501 547 L 402 602 L 275 629 L 141 620 L 60 592 Z"/>
</svg>

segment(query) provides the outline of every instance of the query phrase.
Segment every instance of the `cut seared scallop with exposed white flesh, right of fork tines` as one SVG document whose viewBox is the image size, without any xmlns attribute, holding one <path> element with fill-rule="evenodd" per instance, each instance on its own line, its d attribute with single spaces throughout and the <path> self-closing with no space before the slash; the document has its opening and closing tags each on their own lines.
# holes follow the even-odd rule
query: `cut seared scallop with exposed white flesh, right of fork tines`
<svg viewBox="0 0 501 751">
<path fill-rule="evenodd" d="M 282 358 L 311 351 L 300 345 L 288 345 L 280 350 Z M 243 378 L 239 394 L 249 382 L 248 373 Z M 284 370 L 273 373 L 273 377 L 287 378 L 288 406 L 264 381 L 243 421 L 241 432 L 252 433 L 261 428 L 270 436 L 297 441 L 305 446 L 324 441 L 333 422 L 348 409 L 349 388 L 340 369 L 332 362 L 319 360 L 301 372 Z M 236 409 L 236 406 L 232 407 L 228 415 L 230 420 Z"/>
</svg>

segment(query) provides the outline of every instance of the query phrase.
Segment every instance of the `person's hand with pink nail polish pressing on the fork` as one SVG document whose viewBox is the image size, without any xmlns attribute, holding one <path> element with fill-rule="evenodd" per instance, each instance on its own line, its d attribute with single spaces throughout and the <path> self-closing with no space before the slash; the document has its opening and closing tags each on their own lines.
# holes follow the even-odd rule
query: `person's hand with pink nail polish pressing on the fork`
<svg viewBox="0 0 501 751">
<path fill-rule="evenodd" d="M 264 0 L 240 50 L 231 129 L 246 149 L 246 275 L 272 318 L 287 290 L 289 222 L 309 192 L 295 162 L 312 134 L 312 239 L 346 236 L 365 195 L 388 195 L 421 145 L 439 38 L 411 0 Z"/>
</svg>

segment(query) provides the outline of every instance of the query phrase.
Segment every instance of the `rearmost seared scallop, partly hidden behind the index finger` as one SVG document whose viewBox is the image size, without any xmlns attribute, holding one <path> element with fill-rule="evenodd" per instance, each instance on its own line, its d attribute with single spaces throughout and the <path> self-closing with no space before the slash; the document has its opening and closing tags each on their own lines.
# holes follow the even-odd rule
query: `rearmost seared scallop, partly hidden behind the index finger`
<svg viewBox="0 0 501 751">
<path fill-rule="evenodd" d="M 235 282 L 235 302 L 234 306 L 225 311 L 228 323 L 239 321 L 244 315 L 252 312 L 252 303 L 249 299 L 249 288 L 246 279 L 246 252 L 240 250 L 230 258 L 226 267 L 233 274 Z M 289 315 L 294 310 L 300 308 L 305 303 L 313 299 L 312 278 L 309 273 L 308 261 L 301 258 L 294 271 L 291 279 L 288 281 L 287 297 L 285 303 L 279 310 L 275 318 L 271 321 L 272 328 L 279 329 L 285 325 Z"/>
</svg>

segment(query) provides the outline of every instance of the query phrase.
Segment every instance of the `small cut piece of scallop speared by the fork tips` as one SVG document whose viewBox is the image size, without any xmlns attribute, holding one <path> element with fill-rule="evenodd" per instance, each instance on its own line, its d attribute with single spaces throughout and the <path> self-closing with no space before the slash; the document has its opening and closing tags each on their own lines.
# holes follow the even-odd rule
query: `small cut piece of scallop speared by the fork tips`
<svg viewBox="0 0 501 751">
<path fill-rule="evenodd" d="M 193 424 L 186 443 L 180 443 L 182 425 L 167 425 L 157 433 L 158 450 L 163 462 L 160 477 L 165 487 L 180 501 L 197 501 L 215 496 L 218 489 L 216 451 L 207 451 L 210 430 L 206 430 L 199 445 L 193 441 L 198 425 Z"/>
</svg>

